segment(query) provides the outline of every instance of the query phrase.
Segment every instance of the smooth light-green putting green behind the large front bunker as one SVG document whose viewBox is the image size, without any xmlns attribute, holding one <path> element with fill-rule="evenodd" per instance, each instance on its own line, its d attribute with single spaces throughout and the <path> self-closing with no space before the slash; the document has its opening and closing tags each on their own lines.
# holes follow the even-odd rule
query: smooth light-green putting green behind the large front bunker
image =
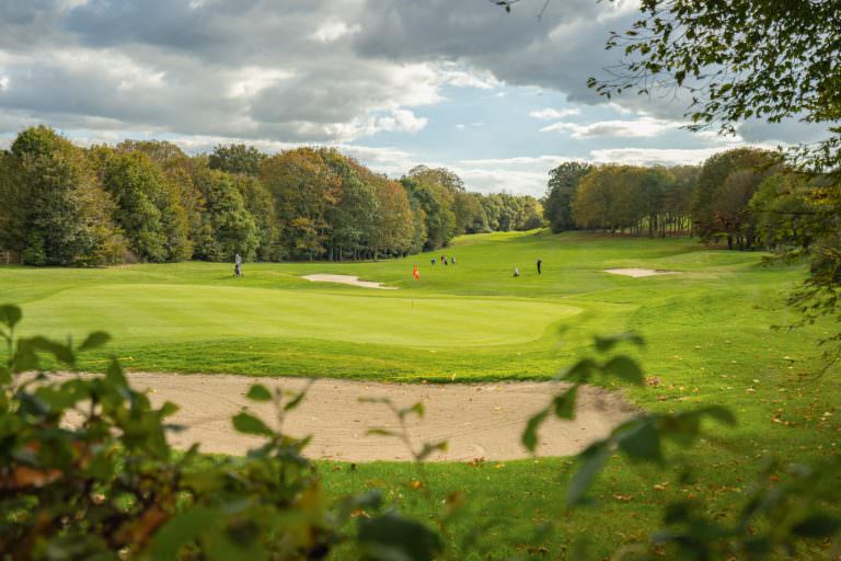
<svg viewBox="0 0 841 561">
<path fill-rule="evenodd" d="M 161 284 L 70 288 L 26 307 L 27 324 L 55 336 L 80 337 L 102 329 L 122 342 L 277 337 L 411 347 L 527 343 L 580 311 L 503 298 L 395 298 Z M 82 329 L 79 318 L 89 319 Z"/>
</svg>

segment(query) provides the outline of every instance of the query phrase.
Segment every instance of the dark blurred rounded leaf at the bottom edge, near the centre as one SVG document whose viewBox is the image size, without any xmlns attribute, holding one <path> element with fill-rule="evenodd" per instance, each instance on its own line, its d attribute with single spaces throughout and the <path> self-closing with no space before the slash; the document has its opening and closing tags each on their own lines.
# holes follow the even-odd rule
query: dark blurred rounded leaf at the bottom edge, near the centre
<svg viewBox="0 0 841 561">
<path fill-rule="evenodd" d="M 441 552 L 441 538 L 428 527 L 389 513 L 359 518 L 361 558 L 371 561 L 429 561 Z"/>
</svg>

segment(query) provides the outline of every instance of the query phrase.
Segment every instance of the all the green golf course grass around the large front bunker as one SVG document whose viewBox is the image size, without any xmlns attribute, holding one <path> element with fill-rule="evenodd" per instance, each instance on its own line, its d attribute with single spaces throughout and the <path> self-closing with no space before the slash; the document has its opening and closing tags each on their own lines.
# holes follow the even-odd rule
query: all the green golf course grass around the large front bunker
<svg viewBox="0 0 841 561">
<path fill-rule="evenodd" d="M 0 301 L 24 304 L 27 323 L 38 331 L 105 327 L 118 336 L 115 348 L 129 367 L 176 371 L 541 378 L 586 351 L 591 333 L 630 329 L 646 337 L 641 358 L 659 380 L 657 387 L 629 391 L 632 400 L 653 410 L 724 403 L 739 415 L 736 431 L 716 434 L 688 456 L 701 470 L 696 483 L 656 490 L 653 484 L 665 482 L 665 474 L 617 462 L 599 485 L 606 510 L 598 513 L 563 512 L 563 480 L 571 469 L 564 459 L 430 466 L 433 502 L 408 484 L 417 477 L 412 466 L 382 462 L 350 470 L 324 463 L 335 492 L 382 486 L 420 516 L 430 515 L 449 492 L 463 490 L 480 519 L 507 517 L 483 538 L 494 557 L 527 554 L 530 547 L 562 554 L 580 534 L 609 550 L 638 538 L 666 497 L 694 494 L 714 510 L 726 505 L 769 451 L 795 459 L 837 449 L 836 377 L 808 377 L 825 328 L 770 329 L 793 319 L 783 300 L 802 278 L 800 268 L 761 266 L 759 254 L 707 251 L 688 240 L 534 232 L 465 237 L 448 253 L 457 256 L 456 267 L 433 270 L 429 255 L 247 265 L 242 282 L 230 278 L 229 265 L 206 263 L 7 267 L 0 268 Z M 533 271 L 538 257 L 544 262 L 540 277 Z M 414 263 L 420 266 L 419 283 L 410 276 Z M 517 279 L 510 276 L 515 265 L 523 273 Z M 635 279 L 601 272 L 615 266 L 687 274 Z M 354 274 L 401 290 L 298 278 L 308 273 Z M 558 335 L 560 329 L 565 331 Z M 471 345 L 472 337 L 483 343 Z M 504 340 L 508 344 L 498 344 Z M 85 366 L 96 368 L 99 360 Z M 615 499 L 625 495 L 634 500 Z M 530 537 L 543 522 L 553 531 Z M 456 537 L 469 536 L 475 526 L 475 518 L 457 522 Z"/>
</svg>

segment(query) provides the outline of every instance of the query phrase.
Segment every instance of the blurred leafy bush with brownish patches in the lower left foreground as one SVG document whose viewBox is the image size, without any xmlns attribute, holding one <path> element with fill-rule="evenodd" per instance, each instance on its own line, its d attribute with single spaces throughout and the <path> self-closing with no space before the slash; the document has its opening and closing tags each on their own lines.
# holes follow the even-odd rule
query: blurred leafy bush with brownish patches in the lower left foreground
<svg viewBox="0 0 841 561">
<path fill-rule="evenodd" d="M 440 537 L 377 493 L 331 507 L 304 440 L 246 412 L 234 427 L 264 438 L 244 458 L 175 454 L 159 409 L 127 382 L 114 359 L 105 376 L 54 380 L 49 355 L 73 368 L 104 345 L 92 333 L 73 346 L 15 337 L 20 308 L 0 306 L 0 554 L 10 559 L 322 559 L 356 542 L 366 559 L 433 559 Z M 263 386 L 249 398 L 272 399 Z M 285 410 L 300 402 L 295 396 Z M 279 393 L 276 396 L 279 405 Z M 278 412 L 281 415 L 280 412 Z M 360 516 L 361 515 L 361 516 Z M 352 516 L 358 528 L 348 528 Z"/>
</svg>

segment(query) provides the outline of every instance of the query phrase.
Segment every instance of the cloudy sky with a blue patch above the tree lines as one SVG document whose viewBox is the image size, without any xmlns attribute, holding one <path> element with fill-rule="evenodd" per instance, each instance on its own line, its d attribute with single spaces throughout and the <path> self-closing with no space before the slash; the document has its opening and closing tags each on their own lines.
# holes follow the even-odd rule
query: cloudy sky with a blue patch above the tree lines
<svg viewBox="0 0 841 561">
<path fill-rule="evenodd" d="M 666 165 L 814 141 L 788 121 L 682 127 L 684 95 L 610 102 L 634 0 L 0 0 L 0 147 L 46 124 L 81 145 L 191 153 L 335 146 L 400 176 L 443 165 L 471 191 L 540 196 L 565 160 Z"/>
</svg>

